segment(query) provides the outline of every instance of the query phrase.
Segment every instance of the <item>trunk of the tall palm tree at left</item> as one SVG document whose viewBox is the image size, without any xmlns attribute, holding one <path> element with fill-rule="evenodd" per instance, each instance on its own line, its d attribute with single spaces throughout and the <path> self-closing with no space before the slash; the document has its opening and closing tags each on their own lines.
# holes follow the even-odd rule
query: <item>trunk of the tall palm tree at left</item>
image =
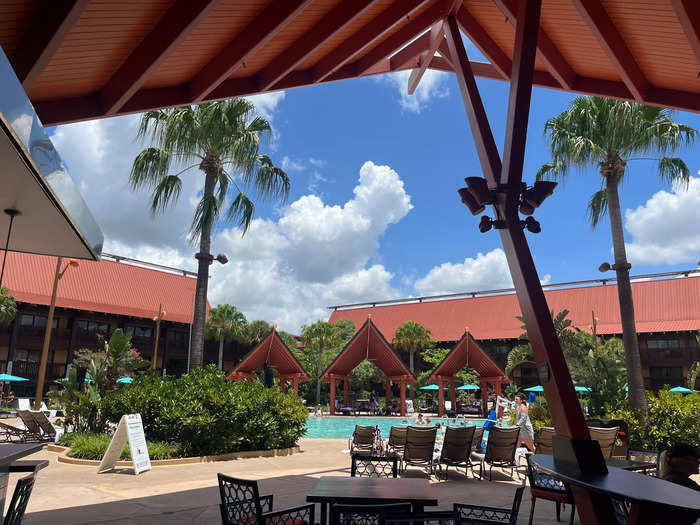
<svg viewBox="0 0 700 525">
<path fill-rule="evenodd" d="M 204 165 L 206 159 L 202 161 Z M 217 168 L 211 165 L 203 166 L 204 198 L 214 195 Z M 192 341 L 190 343 L 190 368 L 202 366 L 204 357 L 204 325 L 207 320 L 207 288 L 209 287 L 209 266 L 211 264 L 211 224 L 205 224 L 199 238 L 199 254 L 197 267 L 197 288 L 194 299 L 194 321 L 192 323 Z"/>
</svg>

